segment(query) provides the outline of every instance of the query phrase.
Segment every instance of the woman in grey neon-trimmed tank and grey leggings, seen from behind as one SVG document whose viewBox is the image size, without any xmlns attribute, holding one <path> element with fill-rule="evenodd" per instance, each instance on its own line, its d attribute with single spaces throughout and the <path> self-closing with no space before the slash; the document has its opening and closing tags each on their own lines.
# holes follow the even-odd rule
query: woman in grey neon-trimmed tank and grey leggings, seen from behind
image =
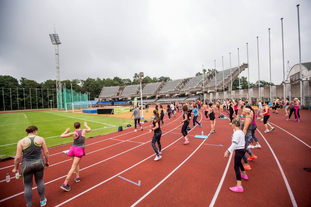
<svg viewBox="0 0 311 207">
<path fill-rule="evenodd" d="M 40 206 L 45 206 L 47 199 L 44 197 L 45 187 L 43 182 L 44 169 L 49 167 L 49 151 L 46 147 L 44 138 L 37 136 L 38 128 L 29 126 L 26 129 L 27 137 L 17 142 L 16 156 L 14 158 L 13 173 L 16 173 L 21 161 L 21 176 L 24 182 L 24 196 L 28 207 L 32 207 L 32 184 L 33 176 L 37 184 L 37 190 L 40 197 Z M 45 163 L 41 153 L 43 150 Z"/>
</svg>

